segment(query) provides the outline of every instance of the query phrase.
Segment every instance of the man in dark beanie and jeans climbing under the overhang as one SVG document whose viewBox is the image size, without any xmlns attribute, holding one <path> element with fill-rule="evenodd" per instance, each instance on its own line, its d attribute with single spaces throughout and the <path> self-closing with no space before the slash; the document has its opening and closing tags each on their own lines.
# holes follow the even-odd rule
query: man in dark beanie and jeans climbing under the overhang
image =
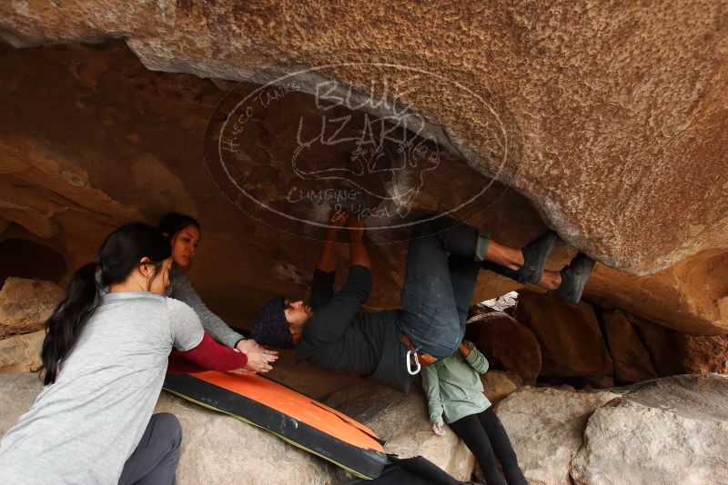
<svg viewBox="0 0 728 485">
<path fill-rule="evenodd" d="M 334 244 L 344 226 L 349 231 L 349 275 L 339 292 L 334 292 Z M 363 234 L 359 218 L 332 217 L 309 304 L 274 298 L 258 313 L 252 338 L 261 345 L 295 347 L 297 361 L 369 377 L 407 392 L 420 363 L 429 365 L 458 349 L 481 269 L 538 284 L 578 302 L 594 266 L 580 252 L 561 272 L 544 271 L 558 240 L 551 231 L 515 249 L 466 224 L 433 219 L 411 233 L 401 308 L 359 314 L 372 284 Z"/>
</svg>

